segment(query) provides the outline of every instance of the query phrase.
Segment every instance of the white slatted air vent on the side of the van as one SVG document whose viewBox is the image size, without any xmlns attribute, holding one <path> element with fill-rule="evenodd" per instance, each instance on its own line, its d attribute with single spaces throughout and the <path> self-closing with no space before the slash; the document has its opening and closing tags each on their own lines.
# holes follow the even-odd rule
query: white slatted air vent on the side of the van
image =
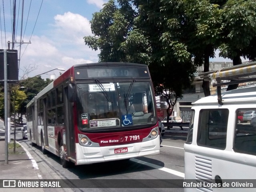
<svg viewBox="0 0 256 192">
<path fill-rule="evenodd" d="M 201 192 L 212 192 L 212 188 L 210 188 L 211 183 L 214 182 L 212 180 L 212 160 L 196 156 L 195 174 L 196 182 L 201 184 L 201 187 L 198 187 L 197 190 Z"/>
</svg>

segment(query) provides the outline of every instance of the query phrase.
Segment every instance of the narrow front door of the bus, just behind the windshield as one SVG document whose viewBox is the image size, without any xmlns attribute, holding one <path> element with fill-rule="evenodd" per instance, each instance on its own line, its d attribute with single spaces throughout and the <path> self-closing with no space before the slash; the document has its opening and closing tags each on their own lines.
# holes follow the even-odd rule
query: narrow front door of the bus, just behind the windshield
<svg viewBox="0 0 256 192">
<path fill-rule="evenodd" d="M 73 89 L 69 86 L 64 88 L 64 127 L 66 131 L 66 147 L 68 156 L 74 156 L 75 154 L 75 138 L 74 138 L 74 124 L 73 124 L 73 112 L 71 102 L 69 102 L 69 95 L 72 94 Z"/>
</svg>

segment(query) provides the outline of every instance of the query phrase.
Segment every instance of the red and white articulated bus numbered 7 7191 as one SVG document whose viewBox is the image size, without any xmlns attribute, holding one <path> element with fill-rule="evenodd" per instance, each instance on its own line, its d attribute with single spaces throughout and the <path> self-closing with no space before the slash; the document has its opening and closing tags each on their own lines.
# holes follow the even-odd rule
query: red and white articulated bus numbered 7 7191
<svg viewBox="0 0 256 192">
<path fill-rule="evenodd" d="M 27 105 L 27 132 L 63 167 L 160 153 L 154 88 L 144 64 L 74 65 Z"/>
</svg>

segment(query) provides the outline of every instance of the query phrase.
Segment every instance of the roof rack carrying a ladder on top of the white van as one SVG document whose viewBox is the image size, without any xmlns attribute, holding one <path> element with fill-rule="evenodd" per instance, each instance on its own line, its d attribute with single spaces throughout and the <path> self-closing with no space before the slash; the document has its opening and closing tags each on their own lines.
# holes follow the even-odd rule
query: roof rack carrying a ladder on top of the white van
<svg viewBox="0 0 256 192">
<path fill-rule="evenodd" d="M 256 75 L 256 61 L 199 74 L 204 81 L 216 80 L 217 83 L 212 86 L 217 87 L 218 103 L 220 105 L 223 105 L 221 86 L 256 81 L 256 77 L 253 75 Z M 230 80 L 230 82 L 221 82 L 222 80 Z"/>
</svg>

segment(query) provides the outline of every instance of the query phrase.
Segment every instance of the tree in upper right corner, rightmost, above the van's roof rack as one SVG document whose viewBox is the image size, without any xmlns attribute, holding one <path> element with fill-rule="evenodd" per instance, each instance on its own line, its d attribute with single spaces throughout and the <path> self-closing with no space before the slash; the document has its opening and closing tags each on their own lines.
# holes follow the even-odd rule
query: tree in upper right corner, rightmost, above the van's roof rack
<svg viewBox="0 0 256 192">
<path fill-rule="evenodd" d="M 223 32 L 220 56 L 233 60 L 233 65 L 242 64 L 241 56 L 256 59 L 256 1 L 228 0 L 223 6 Z M 227 90 L 236 89 L 229 85 Z"/>
</svg>

